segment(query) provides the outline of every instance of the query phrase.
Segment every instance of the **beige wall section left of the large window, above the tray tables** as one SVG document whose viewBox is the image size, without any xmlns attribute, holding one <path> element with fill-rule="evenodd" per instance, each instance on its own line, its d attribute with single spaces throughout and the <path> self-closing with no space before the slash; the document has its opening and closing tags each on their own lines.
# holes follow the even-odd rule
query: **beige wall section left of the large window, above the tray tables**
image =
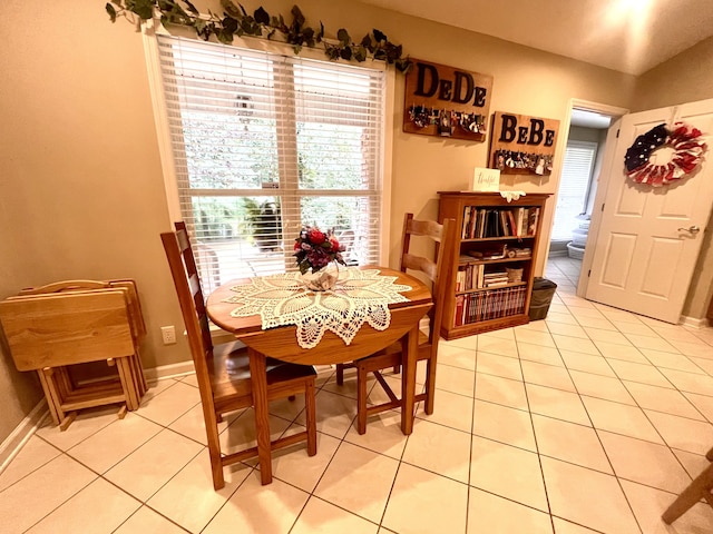
<svg viewBox="0 0 713 534">
<path fill-rule="evenodd" d="M 71 7 L 68 6 L 71 3 Z M 137 280 L 146 367 L 179 325 L 158 234 L 169 228 L 141 38 L 101 2 L 3 2 L 0 19 L 0 298 L 69 278 Z M 0 442 L 41 398 L 0 358 Z"/>
</svg>

